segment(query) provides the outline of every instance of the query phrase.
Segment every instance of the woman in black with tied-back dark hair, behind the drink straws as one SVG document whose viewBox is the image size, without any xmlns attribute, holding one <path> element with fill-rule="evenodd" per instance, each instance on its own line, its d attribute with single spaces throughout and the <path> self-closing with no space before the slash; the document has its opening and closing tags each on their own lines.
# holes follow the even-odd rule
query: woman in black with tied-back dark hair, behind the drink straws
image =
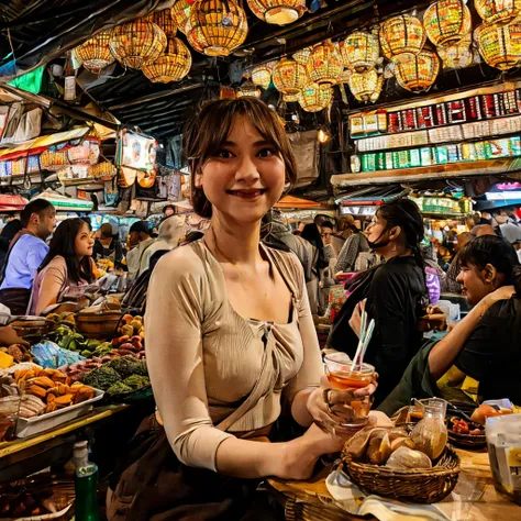
<svg viewBox="0 0 521 521">
<path fill-rule="evenodd" d="M 350 325 L 357 306 L 367 299 L 367 313 L 376 322 L 365 359 L 379 374 L 378 403 L 400 381 L 421 346 L 418 330 L 428 303 L 424 263 L 420 253 L 423 222 L 414 202 L 401 199 L 383 206 L 367 228 L 370 248 L 385 263 L 359 274 L 350 284 L 351 295 L 331 329 L 328 345 L 353 356 L 358 337 Z"/>
</svg>

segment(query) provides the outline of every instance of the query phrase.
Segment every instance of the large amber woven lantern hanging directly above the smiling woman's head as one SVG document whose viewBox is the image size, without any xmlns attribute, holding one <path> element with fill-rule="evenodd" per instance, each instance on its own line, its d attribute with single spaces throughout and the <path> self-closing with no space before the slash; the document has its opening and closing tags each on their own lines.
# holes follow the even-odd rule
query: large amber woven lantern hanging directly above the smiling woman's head
<svg viewBox="0 0 521 521">
<path fill-rule="evenodd" d="M 246 13 L 233 0 L 198 0 L 190 10 L 190 26 L 200 27 L 208 56 L 229 56 L 247 35 Z"/>
</svg>

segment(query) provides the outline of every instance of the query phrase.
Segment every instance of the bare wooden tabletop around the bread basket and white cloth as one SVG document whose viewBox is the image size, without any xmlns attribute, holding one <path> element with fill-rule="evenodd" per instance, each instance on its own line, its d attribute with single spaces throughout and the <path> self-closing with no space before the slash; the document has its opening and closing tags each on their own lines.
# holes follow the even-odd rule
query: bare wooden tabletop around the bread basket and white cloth
<svg viewBox="0 0 521 521">
<path fill-rule="evenodd" d="M 521 507 L 496 491 L 486 451 L 457 450 L 462 472 L 453 494 L 442 503 L 455 521 L 521 520 Z M 288 521 L 362 521 L 375 518 L 352 516 L 334 506 L 325 486 L 331 469 L 322 469 L 308 481 L 268 479 L 271 492 L 285 501 Z M 458 495 L 459 497 L 457 497 Z"/>
</svg>

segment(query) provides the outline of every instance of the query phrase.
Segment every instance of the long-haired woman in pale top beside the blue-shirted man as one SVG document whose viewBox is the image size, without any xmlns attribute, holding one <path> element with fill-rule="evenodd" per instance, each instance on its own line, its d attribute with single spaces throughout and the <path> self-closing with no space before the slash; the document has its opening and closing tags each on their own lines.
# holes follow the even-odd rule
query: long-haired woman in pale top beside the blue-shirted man
<svg viewBox="0 0 521 521">
<path fill-rule="evenodd" d="M 59 224 L 34 279 L 29 314 L 41 314 L 59 302 L 67 288 L 92 282 L 93 244 L 82 219 L 67 219 Z"/>
</svg>

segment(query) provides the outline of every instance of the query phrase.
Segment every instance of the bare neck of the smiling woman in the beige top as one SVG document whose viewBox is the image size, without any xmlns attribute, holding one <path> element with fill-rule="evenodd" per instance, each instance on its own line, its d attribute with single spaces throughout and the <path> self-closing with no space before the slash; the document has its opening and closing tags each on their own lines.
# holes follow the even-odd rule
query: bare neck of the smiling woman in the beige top
<svg viewBox="0 0 521 521">
<path fill-rule="evenodd" d="M 231 264 L 255 264 L 260 253 L 260 222 L 236 223 L 220 215 L 212 218 L 204 240 Z M 209 241 L 208 241 L 209 240 Z"/>
</svg>

